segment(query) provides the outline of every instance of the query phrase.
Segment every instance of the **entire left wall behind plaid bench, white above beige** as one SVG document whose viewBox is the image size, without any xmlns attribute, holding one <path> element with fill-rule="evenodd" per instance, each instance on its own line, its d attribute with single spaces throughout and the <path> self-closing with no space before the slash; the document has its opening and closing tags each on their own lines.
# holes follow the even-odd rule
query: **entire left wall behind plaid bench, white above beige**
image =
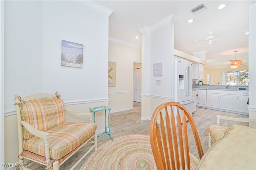
<svg viewBox="0 0 256 170">
<path fill-rule="evenodd" d="M 6 1 L 4 8 L 5 162 L 15 163 L 14 94 L 58 90 L 76 111 L 108 105 L 109 15 L 74 1 Z M 84 45 L 83 68 L 60 66 L 61 40 Z M 101 130 L 104 115 L 98 114 Z"/>
</svg>

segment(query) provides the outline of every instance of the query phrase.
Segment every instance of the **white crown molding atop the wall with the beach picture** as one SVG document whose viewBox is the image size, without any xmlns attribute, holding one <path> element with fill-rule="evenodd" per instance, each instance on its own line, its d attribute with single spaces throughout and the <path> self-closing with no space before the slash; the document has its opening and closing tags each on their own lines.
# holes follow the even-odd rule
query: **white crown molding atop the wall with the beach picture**
<svg viewBox="0 0 256 170">
<path fill-rule="evenodd" d="M 110 10 L 104 6 L 101 6 L 95 2 L 92 2 L 90 0 L 73 0 L 73 1 L 78 4 L 81 4 L 83 6 L 86 6 L 88 8 L 91 8 L 92 10 L 98 11 L 106 16 L 110 16 L 113 12 L 112 10 Z"/>
</svg>

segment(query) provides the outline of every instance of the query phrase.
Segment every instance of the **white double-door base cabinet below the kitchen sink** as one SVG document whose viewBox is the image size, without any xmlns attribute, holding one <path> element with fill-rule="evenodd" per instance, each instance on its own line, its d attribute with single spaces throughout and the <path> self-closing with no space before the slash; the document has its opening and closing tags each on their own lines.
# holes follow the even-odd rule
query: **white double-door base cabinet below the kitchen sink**
<svg viewBox="0 0 256 170">
<path fill-rule="evenodd" d="M 236 91 L 207 90 L 206 106 L 236 111 Z"/>
</svg>

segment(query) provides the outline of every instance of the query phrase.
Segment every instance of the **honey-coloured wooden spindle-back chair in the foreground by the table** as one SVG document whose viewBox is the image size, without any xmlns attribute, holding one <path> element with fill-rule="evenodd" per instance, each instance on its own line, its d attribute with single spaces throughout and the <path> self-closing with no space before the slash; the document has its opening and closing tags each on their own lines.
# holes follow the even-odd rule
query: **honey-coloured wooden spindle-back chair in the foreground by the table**
<svg viewBox="0 0 256 170">
<path fill-rule="evenodd" d="M 188 138 L 188 133 L 194 134 L 201 159 L 204 152 L 196 125 L 188 110 L 174 101 L 162 103 L 155 109 L 150 121 L 150 144 L 159 170 L 196 167 L 199 160 L 189 151 L 191 139 Z"/>
</svg>

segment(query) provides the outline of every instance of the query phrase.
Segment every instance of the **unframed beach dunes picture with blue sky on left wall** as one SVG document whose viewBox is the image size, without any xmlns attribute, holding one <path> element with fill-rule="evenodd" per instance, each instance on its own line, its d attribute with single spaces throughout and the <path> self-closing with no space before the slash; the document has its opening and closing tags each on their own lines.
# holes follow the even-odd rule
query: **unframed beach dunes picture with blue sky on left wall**
<svg viewBox="0 0 256 170">
<path fill-rule="evenodd" d="M 84 45 L 61 40 L 61 65 L 83 67 Z"/>
</svg>

